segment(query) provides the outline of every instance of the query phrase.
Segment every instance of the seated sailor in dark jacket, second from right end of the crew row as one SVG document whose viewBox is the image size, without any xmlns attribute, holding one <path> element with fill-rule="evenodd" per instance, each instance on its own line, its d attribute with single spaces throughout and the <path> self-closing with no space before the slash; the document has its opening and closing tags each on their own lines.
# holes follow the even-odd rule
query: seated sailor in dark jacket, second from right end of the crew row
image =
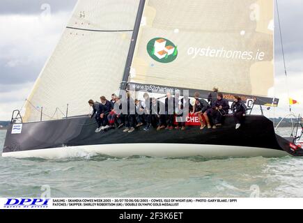
<svg viewBox="0 0 303 223">
<path fill-rule="evenodd" d="M 214 122 L 213 128 L 222 125 L 222 120 L 228 114 L 229 104 L 228 100 L 223 98 L 222 93 L 218 93 L 217 100 L 212 105 L 212 119 Z"/>
</svg>

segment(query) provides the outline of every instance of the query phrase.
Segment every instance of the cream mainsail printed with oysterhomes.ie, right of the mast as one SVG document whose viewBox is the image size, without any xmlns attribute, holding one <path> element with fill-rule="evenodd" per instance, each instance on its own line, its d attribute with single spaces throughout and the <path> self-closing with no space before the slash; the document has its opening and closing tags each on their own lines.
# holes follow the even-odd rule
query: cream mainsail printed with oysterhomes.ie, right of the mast
<svg viewBox="0 0 303 223">
<path fill-rule="evenodd" d="M 266 97 L 273 29 L 271 0 L 148 0 L 130 82 Z"/>
</svg>

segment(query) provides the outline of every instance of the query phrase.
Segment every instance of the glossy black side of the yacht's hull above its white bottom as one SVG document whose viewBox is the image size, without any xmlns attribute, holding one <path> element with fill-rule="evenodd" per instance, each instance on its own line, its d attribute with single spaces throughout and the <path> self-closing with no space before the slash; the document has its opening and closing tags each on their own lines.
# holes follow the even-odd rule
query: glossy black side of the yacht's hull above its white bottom
<svg viewBox="0 0 303 223">
<path fill-rule="evenodd" d="M 94 120 L 88 117 L 23 123 L 20 134 L 11 134 L 12 128 L 13 125 L 8 128 L 3 148 L 4 155 L 45 148 L 111 144 L 122 144 L 121 146 L 123 144 L 240 146 L 285 151 L 294 156 L 303 155 L 301 148 L 294 150 L 290 147 L 290 141 L 275 134 L 272 121 L 264 116 L 247 116 L 239 130 L 235 130 L 232 116 L 226 116 L 224 126 L 215 130 L 187 127 L 185 131 L 153 129 L 145 132 L 141 128 L 132 133 L 125 133 L 118 129 L 95 133 Z"/>
</svg>

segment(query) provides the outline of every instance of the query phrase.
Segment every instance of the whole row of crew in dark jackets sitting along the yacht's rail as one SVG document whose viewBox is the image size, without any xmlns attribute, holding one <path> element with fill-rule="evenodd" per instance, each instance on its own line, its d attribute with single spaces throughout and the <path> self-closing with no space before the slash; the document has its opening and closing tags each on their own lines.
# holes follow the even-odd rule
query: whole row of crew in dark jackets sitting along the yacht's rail
<svg viewBox="0 0 303 223">
<path fill-rule="evenodd" d="M 235 129 L 238 130 L 247 114 L 247 107 L 239 96 L 235 95 L 230 107 L 223 94 L 218 93 L 217 88 L 210 93 L 208 101 L 200 98 L 198 92 L 194 93 L 194 100 L 187 96 L 180 98 L 178 93 L 174 97 L 171 93 L 166 93 L 164 102 L 150 98 L 148 93 L 144 93 L 142 100 L 134 99 L 127 92 L 124 101 L 112 94 L 111 100 L 102 96 L 100 102 L 89 100 L 88 104 L 93 109 L 90 117 L 95 118 L 97 133 L 112 128 L 124 128 L 123 132 L 127 133 L 134 132 L 136 128 L 142 128 L 144 131 L 151 128 L 158 131 L 185 130 L 189 114 L 198 116 L 201 130 L 215 129 L 223 125 L 224 117 L 228 115 L 230 109 L 235 119 Z"/>
</svg>

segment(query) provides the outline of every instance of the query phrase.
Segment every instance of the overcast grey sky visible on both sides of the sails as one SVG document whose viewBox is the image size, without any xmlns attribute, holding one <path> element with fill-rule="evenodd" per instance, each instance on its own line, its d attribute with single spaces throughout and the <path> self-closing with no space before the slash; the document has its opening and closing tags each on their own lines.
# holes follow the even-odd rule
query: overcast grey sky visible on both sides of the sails
<svg viewBox="0 0 303 223">
<path fill-rule="evenodd" d="M 303 82 L 303 1 L 278 2 L 286 66 L 288 75 L 294 82 L 288 84 L 290 86 L 297 84 L 296 86 L 303 89 L 300 84 Z M 3 27 L 0 36 L 0 120 L 2 120 L 8 119 L 13 109 L 22 106 L 22 100 L 26 97 L 24 95 L 29 93 L 45 61 L 56 46 L 77 0 L 0 0 L 0 3 L 0 29 Z M 41 26 L 36 19 L 42 13 L 41 6 L 45 3 L 51 6 L 52 21 Z M 33 29 L 30 26 L 33 26 Z M 275 75 L 280 77 L 279 87 L 285 89 L 277 16 L 275 26 Z M 300 93 L 293 95 L 297 97 Z M 302 95 L 296 99 L 303 103 Z"/>
</svg>

